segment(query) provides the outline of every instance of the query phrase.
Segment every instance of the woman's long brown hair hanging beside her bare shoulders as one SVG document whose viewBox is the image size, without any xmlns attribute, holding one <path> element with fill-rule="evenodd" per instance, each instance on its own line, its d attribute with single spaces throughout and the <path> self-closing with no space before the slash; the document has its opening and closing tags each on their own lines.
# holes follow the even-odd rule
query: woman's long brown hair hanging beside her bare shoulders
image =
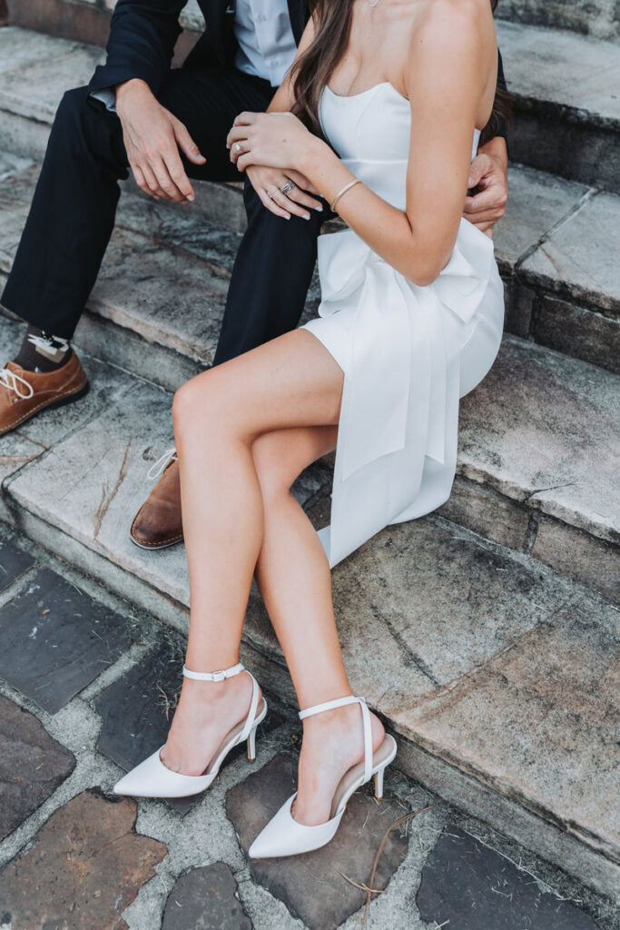
<svg viewBox="0 0 620 930">
<path fill-rule="evenodd" d="M 494 13 L 497 2 L 491 0 Z M 319 102 L 331 74 L 349 45 L 353 0 L 310 0 L 309 6 L 316 33 L 310 46 L 291 69 L 296 100 L 293 113 L 312 132 L 323 135 L 319 123 Z M 481 133 L 481 142 L 493 139 L 502 124 L 508 126 L 510 111 L 508 90 L 498 86 L 491 117 Z"/>
</svg>

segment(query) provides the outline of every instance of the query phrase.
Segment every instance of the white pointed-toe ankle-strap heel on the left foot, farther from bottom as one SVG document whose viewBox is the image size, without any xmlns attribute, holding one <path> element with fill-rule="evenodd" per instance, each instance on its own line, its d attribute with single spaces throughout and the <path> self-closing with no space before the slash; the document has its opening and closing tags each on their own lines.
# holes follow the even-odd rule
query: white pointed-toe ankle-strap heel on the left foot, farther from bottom
<svg viewBox="0 0 620 930">
<path fill-rule="evenodd" d="M 222 671 L 188 671 L 183 666 L 183 674 L 186 678 L 201 682 L 223 682 L 232 675 L 238 675 L 240 671 L 246 671 L 252 679 L 250 709 L 247 711 L 245 720 L 233 726 L 222 739 L 202 775 L 182 775 L 166 768 L 160 758 L 160 752 L 164 749 L 162 746 L 136 768 L 127 772 L 125 777 L 114 785 L 114 793 L 131 794 L 141 798 L 184 798 L 191 794 L 199 794 L 200 791 L 208 788 L 218 775 L 220 765 L 229 752 L 244 740 L 247 740 L 247 758 L 250 762 L 254 762 L 257 757 L 257 726 L 265 719 L 267 713 L 265 698 L 261 697 L 260 704 L 258 703 L 258 683 L 254 675 L 244 669 L 241 662 Z"/>
</svg>

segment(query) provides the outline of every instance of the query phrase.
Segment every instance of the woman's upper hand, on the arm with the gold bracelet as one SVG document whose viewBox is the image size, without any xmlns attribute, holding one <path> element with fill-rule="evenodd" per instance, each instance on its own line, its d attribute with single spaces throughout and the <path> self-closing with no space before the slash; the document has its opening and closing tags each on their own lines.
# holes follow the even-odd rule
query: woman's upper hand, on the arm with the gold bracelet
<svg viewBox="0 0 620 930">
<path fill-rule="evenodd" d="M 250 165 L 299 168 L 315 137 L 293 113 L 240 113 L 226 144 L 240 171 Z"/>
</svg>

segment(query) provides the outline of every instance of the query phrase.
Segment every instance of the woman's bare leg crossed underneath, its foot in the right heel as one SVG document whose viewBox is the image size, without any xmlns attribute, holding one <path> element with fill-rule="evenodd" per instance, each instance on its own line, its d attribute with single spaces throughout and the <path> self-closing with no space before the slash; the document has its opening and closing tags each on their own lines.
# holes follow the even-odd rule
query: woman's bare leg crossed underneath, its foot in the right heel
<svg viewBox="0 0 620 930">
<path fill-rule="evenodd" d="M 284 651 L 300 708 L 350 695 L 336 631 L 331 571 L 306 513 L 290 493 L 297 474 L 336 446 L 336 427 L 264 433 L 253 446 L 264 501 L 257 584 Z M 363 759 L 362 713 L 356 705 L 303 724 L 295 816 L 328 819 L 336 786 Z M 384 737 L 372 715 L 373 745 Z"/>
</svg>

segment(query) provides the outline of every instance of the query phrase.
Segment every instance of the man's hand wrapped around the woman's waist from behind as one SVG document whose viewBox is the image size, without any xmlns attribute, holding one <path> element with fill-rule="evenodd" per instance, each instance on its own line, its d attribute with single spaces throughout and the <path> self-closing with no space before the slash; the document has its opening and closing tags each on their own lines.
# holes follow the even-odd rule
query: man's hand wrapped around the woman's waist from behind
<svg viewBox="0 0 620 930">
<path fill-rule="evenodd" d="M 493 227 L 506 213 L 508 203 L 508 150 L 501 137 L 482 145 L 469 169 L 463 217 L 493 238 Z"/>
</svg>

